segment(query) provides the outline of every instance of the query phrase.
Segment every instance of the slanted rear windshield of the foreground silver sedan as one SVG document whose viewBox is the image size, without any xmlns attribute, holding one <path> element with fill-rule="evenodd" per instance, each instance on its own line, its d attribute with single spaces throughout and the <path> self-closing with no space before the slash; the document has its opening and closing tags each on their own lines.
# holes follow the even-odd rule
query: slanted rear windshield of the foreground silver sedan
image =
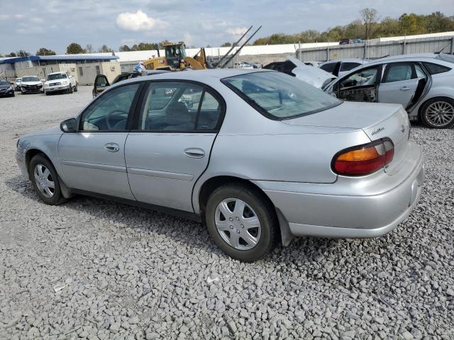
<svg viewBox="0 0 454 340">
<path fill-rule="evenodd" d="M 281 120 L 338 106 L 341 101 L 304 81 L 280 72 L 256 72 L 222 79 L 268 118 Z"/>
</svg>

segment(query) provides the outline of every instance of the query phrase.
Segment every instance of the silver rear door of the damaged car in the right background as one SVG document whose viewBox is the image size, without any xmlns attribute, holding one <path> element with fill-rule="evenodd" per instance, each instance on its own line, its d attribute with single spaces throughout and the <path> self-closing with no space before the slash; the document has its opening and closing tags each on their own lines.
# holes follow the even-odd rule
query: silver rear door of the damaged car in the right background
<svg viewBox="0 0 454 340">
<path fill-rule="evenodd" d="M 414 64 L 394 62 L 384 67 L 383 79 L 378 87 L 380 103 L 402 104 L 409 106 L 419 84 Z"/>
</svg>

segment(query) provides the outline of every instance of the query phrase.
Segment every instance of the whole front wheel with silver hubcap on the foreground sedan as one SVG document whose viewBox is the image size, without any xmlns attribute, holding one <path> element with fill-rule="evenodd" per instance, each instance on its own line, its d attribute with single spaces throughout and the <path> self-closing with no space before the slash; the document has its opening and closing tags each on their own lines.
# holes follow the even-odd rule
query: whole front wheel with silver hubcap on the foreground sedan
<svg viewBox="0 0 454 340">
<path fill-rule="evenodd" d="M 31 159 L 28 173 L 33 188 L 46 204 L 58 205 L 65 202 L 62 191 L 60 191 L 57 171 L 43 154 L 37 154 Z"/>
</svg>

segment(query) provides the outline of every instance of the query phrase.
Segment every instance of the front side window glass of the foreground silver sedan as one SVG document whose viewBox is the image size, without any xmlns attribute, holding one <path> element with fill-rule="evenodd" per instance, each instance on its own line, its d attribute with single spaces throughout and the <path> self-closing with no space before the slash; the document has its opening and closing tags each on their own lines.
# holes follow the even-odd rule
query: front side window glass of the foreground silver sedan
<svg viewBox="0 0 454 340">
<path fill-rule="evenodd" d="M 123 131 L 126 129 L 129 110 L 140 84 L 118 86 L 99 96 L 82 113 L 79 130 Z"/>
</svg>

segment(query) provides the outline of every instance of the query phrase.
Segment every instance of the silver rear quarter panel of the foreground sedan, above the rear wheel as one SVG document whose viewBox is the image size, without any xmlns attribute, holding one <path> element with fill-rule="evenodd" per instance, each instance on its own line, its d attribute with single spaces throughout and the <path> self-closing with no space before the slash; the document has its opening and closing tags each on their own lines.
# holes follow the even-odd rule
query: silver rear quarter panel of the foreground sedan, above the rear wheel
<svg viewBox="0 0 454 340">
<path fill-rule="evenodd" d="M 333 183 L 337 178 L 331 171 L 334 154 L 370 142 L 360 129 L 288 125 L 265 118 L 232 91 L 222 95 L 227 103 L 226 116 L 209 165 L 194 186 L 196 212 L 200 188 L 213 177 Z"/>
</svg>

